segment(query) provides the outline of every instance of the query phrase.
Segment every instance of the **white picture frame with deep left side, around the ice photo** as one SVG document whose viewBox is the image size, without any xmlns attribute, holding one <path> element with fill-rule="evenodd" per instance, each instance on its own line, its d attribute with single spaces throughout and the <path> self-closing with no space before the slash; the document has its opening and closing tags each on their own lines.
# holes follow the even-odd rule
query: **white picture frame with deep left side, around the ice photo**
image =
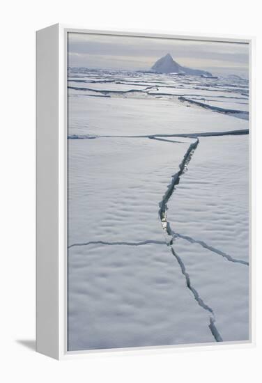
<svg viewBox="0 0 262 383">
<path fill-rule="evenodd" d="M 90 31 L 61 24 L 36 33 L 36 150 L 37 150 L 37 228 L 36 228 L 36 350 L 55 359 L 68 359 L 99 352 L 167 352 L 181 347 L 190 350 L 207 347 L 249 347 L 254 345 L 254 256 L 252 235 L 254 208 L 253 179 L 250 185 L 250 338 L 245 342 L 217 345 L 192 344 L 134 347 L 114 350 L 67 350 L 67 35 L 69 32 L 114 36 L 141 36 L 167 39 L 247 42 L 249 44 L 249 164 L 254 156 L 254 38 L 236 36 L 186 36 L 155 31 Z M 250 168 L 251 169 L 251 168 Z M 252 171 L 250 170 L 250 175 Z"/>
</svg>

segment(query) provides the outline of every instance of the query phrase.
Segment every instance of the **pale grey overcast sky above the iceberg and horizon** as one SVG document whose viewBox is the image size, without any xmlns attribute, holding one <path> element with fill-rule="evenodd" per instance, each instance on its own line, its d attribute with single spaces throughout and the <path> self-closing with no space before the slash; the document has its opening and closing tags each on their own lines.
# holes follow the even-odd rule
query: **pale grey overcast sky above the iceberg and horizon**
<svg viewBox="0 0 262 383">
<path fill-rule="evenodd" d="M 213 75 L 248 77 L 247 44 L 68 33 L 70 67 L 148 70 L 167 53 L 180 65 Z"/>
</svg>

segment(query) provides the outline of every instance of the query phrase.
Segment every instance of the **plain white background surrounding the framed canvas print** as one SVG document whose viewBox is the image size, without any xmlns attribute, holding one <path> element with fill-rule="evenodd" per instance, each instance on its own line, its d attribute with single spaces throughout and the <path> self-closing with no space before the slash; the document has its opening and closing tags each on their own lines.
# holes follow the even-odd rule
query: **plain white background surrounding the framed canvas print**
<svg viewBox="0 0 262 383">
<path fill-rule="evenodd" d="M 44 0 L 1 4 L 0 353 L 2 382 L 261 382 L 261 11 L 259 1 Z M 31 347 L 35 327 L 35 31 L 88 29 L 256 36 L 257 345 L 238 350 L 88 357 L 58 362 Z M 26 346 L 27 345 L 27 346 Z M 29 347 L 28 347 L 29 346 Z"/>
</svg>

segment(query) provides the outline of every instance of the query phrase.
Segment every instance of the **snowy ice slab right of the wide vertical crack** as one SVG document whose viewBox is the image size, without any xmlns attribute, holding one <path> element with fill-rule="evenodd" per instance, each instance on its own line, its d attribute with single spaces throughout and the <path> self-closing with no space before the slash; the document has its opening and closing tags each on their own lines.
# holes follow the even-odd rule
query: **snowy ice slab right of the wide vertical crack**
<svg viewBox="0 0 262 383">
<path fill-rule="evenodd" d="M 248 136 L 201 137 L 168 201 L 172 230 L 249 259 Z"/>
</svg>

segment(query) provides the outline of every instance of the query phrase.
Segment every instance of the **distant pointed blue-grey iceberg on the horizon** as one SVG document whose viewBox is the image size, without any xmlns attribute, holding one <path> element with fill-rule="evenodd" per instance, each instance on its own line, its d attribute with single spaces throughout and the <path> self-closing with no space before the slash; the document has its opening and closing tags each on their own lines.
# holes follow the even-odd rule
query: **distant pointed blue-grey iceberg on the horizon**
<svg viewBox="0 0 262 383">
<path fill-rule="evenodd" d="M 212 74 L 206 70 L 186 68 L 179 65 L 169 53 L 157 60 L 151 68 L 151 71 L 155 73 L 176 73 L 178 75 L 183 73 L 185 75 L 212 77 Z"/>
</svg>

